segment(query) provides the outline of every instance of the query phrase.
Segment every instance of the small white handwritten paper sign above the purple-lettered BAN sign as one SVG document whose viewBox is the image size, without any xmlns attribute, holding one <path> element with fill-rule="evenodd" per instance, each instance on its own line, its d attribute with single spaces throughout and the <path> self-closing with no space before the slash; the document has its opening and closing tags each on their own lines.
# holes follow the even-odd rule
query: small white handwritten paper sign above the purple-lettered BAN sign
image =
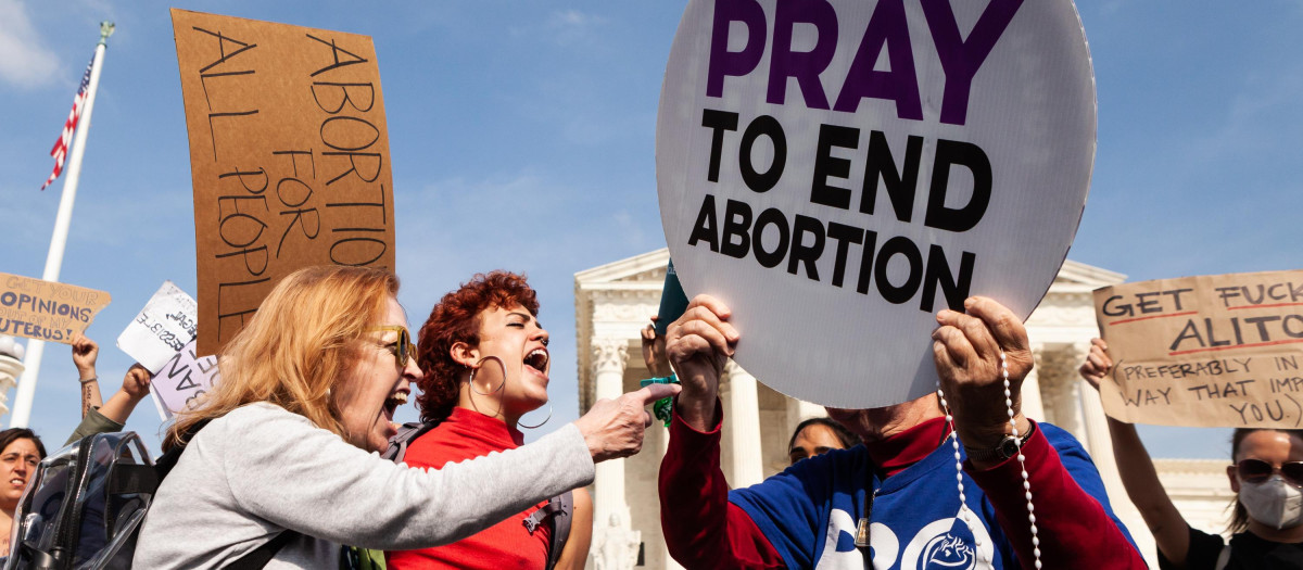
<svg viewBox="0 0 1303 570">
<path fill-rule="evenodd" d="M 163 281 L 145 308 L 117 336 L 117 347 L 158 373 L 198 334 L 198 305 L 172 281 Z"/>
</svg>

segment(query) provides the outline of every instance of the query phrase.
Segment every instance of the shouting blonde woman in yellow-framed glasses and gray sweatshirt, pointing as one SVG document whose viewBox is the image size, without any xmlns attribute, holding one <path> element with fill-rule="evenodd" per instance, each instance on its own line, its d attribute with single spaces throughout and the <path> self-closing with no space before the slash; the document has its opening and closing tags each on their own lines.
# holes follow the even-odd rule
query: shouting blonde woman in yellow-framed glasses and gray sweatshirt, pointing
<svg viewBox="0 0 1303 570">
<path fill-rule="evenodd" d="M 459 540 L 641 448 L 641 390 L 520 449 L 447 466 L 382 459 L 394 410 L 421 376 L 397 278 L 367 268 L 294 272 L 219 355 L 222 380 L 164 446 L 185 450 L 146 515 L 134 567 L 216 569 L 271 552 L 267 569 L 339 567 L 340 544 Z M 195 428 L 199 428 L 195 431 Z"/>
</svg>

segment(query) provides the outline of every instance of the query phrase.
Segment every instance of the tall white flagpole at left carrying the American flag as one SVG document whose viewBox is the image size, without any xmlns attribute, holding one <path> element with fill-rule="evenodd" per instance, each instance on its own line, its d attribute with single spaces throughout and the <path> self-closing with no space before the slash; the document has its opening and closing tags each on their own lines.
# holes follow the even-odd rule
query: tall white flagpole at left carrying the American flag
<svg viewBox="0 0 1303 570">
<path fill-rule="evenodd" d="M 77 135 L 73 137 L 72 152 L 68 156 L 68 177 L 64 178 L 64 194 L 59 198 L 59 215 L 55 216 L 55 234 L 50 238 L 50 254 L 46 255 L 44 281 L 59 281 L 59 271 L 64 265 L 64 247 L 68 245 L 68 226 L 73 219 L 73 200 L 77 198 L 77 182 L 81 180 L 81 159 L 86 152 L 86 134 L 90 131 L 90 116 L 95 111 L 95 92 L 99 90 L 99 70 L 104 64 L 104 48 L 108 36 L 113 35 L 113 22 L 99 22 L 99 44 L 95 46 L 95 62 L 90 69 L 90 85 L 86 87 L 86 102 L 82 104 L 81 118 L 77 122 Z M 36 396 L 36 376 L 40 373 L 40 357 L 46 342 L 27 341 L 27 367 L 18 380 L 18 392 L 13 398 L 13 415 L 9 427 L 27 427 L 31 418 L 31 401 Z"/>
</svg>

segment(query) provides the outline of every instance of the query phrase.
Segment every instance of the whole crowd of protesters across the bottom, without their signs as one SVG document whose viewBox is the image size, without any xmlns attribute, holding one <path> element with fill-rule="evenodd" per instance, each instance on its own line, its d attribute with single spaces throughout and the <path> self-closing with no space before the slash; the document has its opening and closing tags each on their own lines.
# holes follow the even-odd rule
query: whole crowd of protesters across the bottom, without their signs
<svg viewBox="0 0 1303 570">
<path fill-rule="evenodd" d="M 719 381 L 740 334 L 719 299 L 697 297 L 665 334 L 642 333 L 648 371 L 681 388 L 598 401 L 525 444 L 521 428 L 537 423 L 526 415 L 551 416 L 542 413 L 549 333 L 525 278 L 474 276 L 431 310 L 420 342 L 397 288 L 386 271 L 341 267 L 276 285 L 220 353 L 220 383 L 167 428 L 164 448 L 180 454 L 134 567 L 581 569 L 593 530 L 584 487 L 595 463 L 638 453 L 645 407 L 666 397 L 661 517 L 685 567 L 1145 566 L 1081 445 L 1019 411 L 1031 342 L 993 299 L 939 311 L 932 338 L 920 340 L 933 345 L 937 393 L 829 409 L 791 435 L 788 468 L 731 489 Z M 1081 364 L 1091 385 L 1113 366 L 1105 349 L 1096 340 Z M 83 419 L 69 442 L 122 429 L 149 394 L 150 375 L 136 364 L 102 401 L 98 350 L 72 342 Z M 394 414 L 413 384 L 421 422 L 399 427 Z M 1132 426 L 1110 419 L 1109 428 L 1161 567 L 1303 567 L 1303 432 L 1235 432 L 1226 541 L 1186 523 Z M 44 455 L 30 429 L 0 432 L 5 553 Z"/>
</svg>

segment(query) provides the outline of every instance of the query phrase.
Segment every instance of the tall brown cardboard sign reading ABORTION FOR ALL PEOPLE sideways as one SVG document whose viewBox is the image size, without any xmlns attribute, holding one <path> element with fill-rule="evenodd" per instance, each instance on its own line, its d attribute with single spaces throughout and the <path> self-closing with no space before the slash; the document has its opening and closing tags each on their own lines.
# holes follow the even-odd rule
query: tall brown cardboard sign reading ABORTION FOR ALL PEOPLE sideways
<svg viewBox="0 0 1303 570">
<path fill-rule="evenodd" d="M 388 126 L 369 36 L 180 9 L 172 31 L 207 355 L 294 269 L 394 269 Z"/>
</svg>

